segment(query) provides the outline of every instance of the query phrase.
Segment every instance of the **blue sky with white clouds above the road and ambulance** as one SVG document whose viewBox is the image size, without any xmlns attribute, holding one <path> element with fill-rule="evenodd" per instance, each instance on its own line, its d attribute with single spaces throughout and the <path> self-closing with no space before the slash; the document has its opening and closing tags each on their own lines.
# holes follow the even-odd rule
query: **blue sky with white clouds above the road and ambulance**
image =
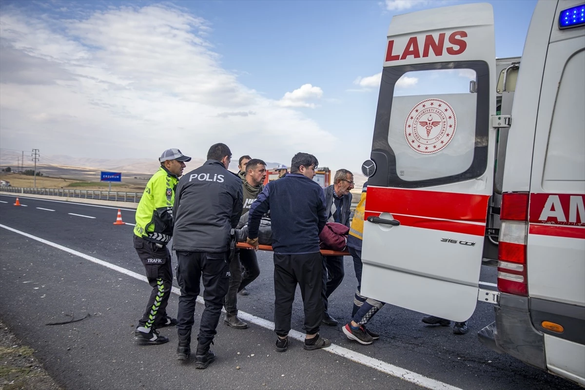
<svg viewBox="0 0 585 390">
<path fill-rule="evenodd" d="M 3 0 L 0 144 L 205 158 L 223 142 L 234 160 L 290 165 L 304 151 L 359 172 L 392 16 L 470 2 Z M 497 57 L 521 56 L 536 1 L 488 2 Z"/>
</svg>

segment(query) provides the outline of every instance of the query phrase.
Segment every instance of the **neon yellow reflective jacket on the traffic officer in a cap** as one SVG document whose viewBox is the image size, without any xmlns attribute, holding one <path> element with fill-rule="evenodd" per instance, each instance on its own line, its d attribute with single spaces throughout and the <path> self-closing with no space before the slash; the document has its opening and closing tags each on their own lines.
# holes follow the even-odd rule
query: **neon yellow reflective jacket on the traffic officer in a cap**
<svg viewBox="0 0 585 390">
<path fill-rule="evenodd" d="M 159 244 L 170 241 L 177 182 L 178 177 L 163 167 L 150 178 L 136 209 L 136 236 Z"/>
</svg>

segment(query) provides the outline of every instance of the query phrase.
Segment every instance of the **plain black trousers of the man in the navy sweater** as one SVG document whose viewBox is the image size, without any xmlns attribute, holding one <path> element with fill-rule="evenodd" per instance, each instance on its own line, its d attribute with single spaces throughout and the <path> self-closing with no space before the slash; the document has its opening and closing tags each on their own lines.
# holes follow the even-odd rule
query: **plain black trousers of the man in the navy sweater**
<svg viewBox="0 0 585 390">
<path fill-rule="evenodd" d="M 321 298 L 322 256 L 320 252 L 308 254 L 274 253 L 274 332 L 285 336 L 291 330 L 292 302 L 301 288 L 307 334 L 319 332 L 323 319 Z"/>
</svg>

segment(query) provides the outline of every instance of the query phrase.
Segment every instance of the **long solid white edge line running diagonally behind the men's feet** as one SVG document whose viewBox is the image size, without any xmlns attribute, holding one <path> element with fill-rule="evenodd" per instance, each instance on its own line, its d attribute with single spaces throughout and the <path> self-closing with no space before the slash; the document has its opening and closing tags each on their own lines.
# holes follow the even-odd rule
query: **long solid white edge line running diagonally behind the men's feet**
<svg viewBox="0 0 585 390">
<path fill-rule="evenodd" d="M 128 276 L 133 277 L 135 279 L 139 279 L 143 282 L 148 282 L 144 275 L 137 274 L 136 272 L 133 272 L 130 270 L 126 270 L 126 268 L 118 267 L 118 265 L 108 263 L 104 260 L 99 260 L 99 258 L 95 258 L 95 257 L 89 256 L 85 253 L 81 253 L 81 252 L 78 252 L 76 250 L 69 249 L 68 247 L 53 243 L 51 241 L 44 240 L 40 237 L 33 236 L 32 234 L 20 232 L 20 230 L 13 229 L 12 227 L 8 227 L 8 226 L 1 225 L 1 224 L 0 224 L 0 227 L 4 227 L 4 229 L 6 229 L 6 230 L 10 230 L 11 232 L 21 234 L 22 236 L 25 236 L 25 237 L 29 237 L 29 239 L 39 241 L 43 244 L 47 244 L 51 247 L 66 251 L 67 253 L 71 253 L 75 256 L 85 258 L 85 260 L 89 260 L 92 263 L 104 265 L 104 267 L 110 268 L 111 270 L 121 272 L 122 274 L 128 275 Z M 180 290 L 176 287 L 173 287 L 171 289 L 171 292 L 173 292 L 173 294 L 176 294 L 176 295 L 181 295 Z M 204 301 L 201 298 L 201 296 L 197 297 L 197 302 L 204 304 Z M 222 311 L 223 311 L 223 309 L 222 309 Z M 263 319 L 260 317 L 256 317 L 252 314 L 242 312 L 241 310 L 238 312 L 238 316 L 240 316 L 240 318 L 242 318 L 243 320 L 252 322 L 258 326 L 265 327 L 266 329 L 274 330 L 274 323 L 270 322 L 269 320 L 266 320 L 266 319 Z M 297 332 L 296 330 L 291 330 L 288 333 L 288 335 L 291 336 L 295 340 L 302 341 L 305 339 L 304 333 Z M 398 377 L 398 378 L 404 379 L 405 381 L 408 381 L 408 382 L 411 382 L 411 383 L 414 383 L 416 385 L 423 386 L 423 387 L 426 387 L 429 389 L 461 390 L 455 386 L 436 381 L 435 379 L 427 378 L 424 375 L 417 374 L 416 372 L 405 370 L 404 368 L 397 367 L 393 364 L 388 364 L 384 361 L 366 356 L 364 354 L 349 350 L 349 349 L 344 348 L 344 347 L 340 347 L 336 344 L 331 344 L 331 346 L 329 348 L 325 348 L 325 351 L 328 351 L 329 353 L 332 353 L 332 354 L 335 354 L 335 355 L 338 355 L 341 357 L 345 357 L 349 360 L 355 361 L 356 363 L 365 365 L 367 367 L 374 368 L 374 369 L 381 371 L 381 372 L 384 372 L 388 375 L 392 375 L 393 377 Z"/>
</svg>

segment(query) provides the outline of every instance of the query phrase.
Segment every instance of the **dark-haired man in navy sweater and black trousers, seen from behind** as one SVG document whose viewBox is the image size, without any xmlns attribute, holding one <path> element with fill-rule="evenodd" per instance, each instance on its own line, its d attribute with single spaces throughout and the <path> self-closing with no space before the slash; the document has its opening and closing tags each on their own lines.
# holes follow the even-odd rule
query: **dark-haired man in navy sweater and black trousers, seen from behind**
<svg viewBox="0 0 585 390">
<path fill-rule="evenodd" d="M 300 285 L 305 309 L 304 348 L 316 350 L 331 345 L 319 336 L 323 313 L 321 298 L 322 256 L 319 233 L 325 226 L 325 197 L 312 178 L 318 161 L 315 156 L 297 153 L 292 157 L 291 173 L 269 182 L 250 208 L 248 240 L 258 246 L 258 227 L 270 210 L 274 250 L 274 332 L 276 351 L 288 348 L 292 302 Z"/>
</svg>

